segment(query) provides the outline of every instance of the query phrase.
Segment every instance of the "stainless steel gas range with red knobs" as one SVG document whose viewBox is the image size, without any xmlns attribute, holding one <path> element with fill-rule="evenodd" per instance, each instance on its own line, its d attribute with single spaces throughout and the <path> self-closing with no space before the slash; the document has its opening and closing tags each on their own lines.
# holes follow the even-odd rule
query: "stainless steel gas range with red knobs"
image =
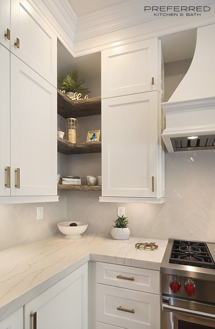
<svg viewBox="0 0 215 329">
<path fill-rule="evenodd" d="M 215 243 L 169 239 L 161 264 L 161 329 L 215 328 Z"/>
</svg>

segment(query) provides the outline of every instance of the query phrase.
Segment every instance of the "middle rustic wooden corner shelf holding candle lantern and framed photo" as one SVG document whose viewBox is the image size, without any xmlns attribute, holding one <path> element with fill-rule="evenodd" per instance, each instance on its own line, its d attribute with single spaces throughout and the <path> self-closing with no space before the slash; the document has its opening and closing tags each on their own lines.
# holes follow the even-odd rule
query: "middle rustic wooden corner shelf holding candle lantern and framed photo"
<svg viewBox="0 0 215 329">
<path fill-rule="evenodd" d="M 85 154 L 85 153 L 101 153 L 102 142 L 91 143 L 71 143 L 65 139 L 57 138 L 57 152 L 63 154 Z"/>
</svg>

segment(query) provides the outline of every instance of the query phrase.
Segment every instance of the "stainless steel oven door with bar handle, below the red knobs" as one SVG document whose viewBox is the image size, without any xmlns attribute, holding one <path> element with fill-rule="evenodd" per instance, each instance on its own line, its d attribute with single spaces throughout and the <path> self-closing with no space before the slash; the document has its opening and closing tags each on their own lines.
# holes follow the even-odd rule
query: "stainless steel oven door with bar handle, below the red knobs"
<svg viewBox="0 0 215 329">
<path fill-rule="evenodd" d="M 162 296 L 161 308 L 161 329 L 215 328 L 214 304 Z"/>
</svg>

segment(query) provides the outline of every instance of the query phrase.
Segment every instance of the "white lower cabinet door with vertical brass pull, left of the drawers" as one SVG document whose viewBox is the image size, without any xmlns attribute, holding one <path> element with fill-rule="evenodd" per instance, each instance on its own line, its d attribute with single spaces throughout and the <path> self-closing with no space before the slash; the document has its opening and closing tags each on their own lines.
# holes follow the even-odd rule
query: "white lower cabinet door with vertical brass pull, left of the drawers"
<svg viewBox="0 0 215 329">
<path fill-rule="evenodd" d="M 24 306 L 24 328 L 87 329 L 87 263 Z M 35 328 L 34 328 L 35 329 Z"/>
</svg>

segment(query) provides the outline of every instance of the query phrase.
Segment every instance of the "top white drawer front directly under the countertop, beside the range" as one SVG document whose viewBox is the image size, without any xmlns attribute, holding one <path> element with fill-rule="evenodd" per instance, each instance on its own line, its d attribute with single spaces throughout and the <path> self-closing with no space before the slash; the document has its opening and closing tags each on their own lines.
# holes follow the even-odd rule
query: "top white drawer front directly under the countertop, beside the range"
<svg viewBox="0 0 215 329">
<path fill-rule="evenodd" d="M 145 268 L 97 262 L 96 282 L 160 294 L 160 272 Z"/>
</svg>

